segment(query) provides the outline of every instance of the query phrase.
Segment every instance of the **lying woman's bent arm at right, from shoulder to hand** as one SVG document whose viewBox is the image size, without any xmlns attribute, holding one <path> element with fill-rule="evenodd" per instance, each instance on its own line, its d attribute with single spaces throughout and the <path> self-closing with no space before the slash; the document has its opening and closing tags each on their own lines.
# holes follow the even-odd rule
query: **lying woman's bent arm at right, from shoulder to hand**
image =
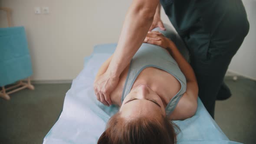
<svg viewBox="0 0 256 144">
<path fill-rule="evenodd" d="M 161 46 L 164 49 L 167 49 L 171 56 L 175 59 L 181 72 L 183 72 L 187 81 L 186 92 L 181 97 L 176 108 L 171 114 L 172 120 L 183 120 L 186 118 L 192 117 L 197 111 L 197 95 L 198 95 L 198 86 L 197 79 L 194 74 L 194 71 L 190 64 L 184 59 L 181 55 L 175 44 L 170 40 L 164 37 L 159 32 L 149 32 L 146 36 L 144 42 L 151 43 L 154 45 Z"/>
</svg>

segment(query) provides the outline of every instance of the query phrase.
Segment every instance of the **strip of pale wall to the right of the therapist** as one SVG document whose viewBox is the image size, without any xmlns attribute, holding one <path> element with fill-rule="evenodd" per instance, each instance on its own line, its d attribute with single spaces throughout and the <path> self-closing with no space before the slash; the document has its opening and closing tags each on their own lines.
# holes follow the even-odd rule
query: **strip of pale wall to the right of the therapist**
<svg viewBox="0 0 256 144">
<path fill-rule="evenodd" d="M 256 0 L 243 0 L 250 23 L 249 33 L 229 66 L 229 71 L 256 80 Z"/>
</svg>

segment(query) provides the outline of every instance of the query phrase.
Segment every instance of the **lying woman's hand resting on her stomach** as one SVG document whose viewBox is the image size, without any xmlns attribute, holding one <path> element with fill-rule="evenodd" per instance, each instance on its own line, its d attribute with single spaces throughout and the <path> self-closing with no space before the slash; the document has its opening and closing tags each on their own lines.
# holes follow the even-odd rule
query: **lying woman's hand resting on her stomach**
<svg viewBox="0 0 256 144">
<path fill-rule="evenodd" d="M 150 43 L 167 49 L 170 48 L 173 42 L 158 31 L 150 31 L 145 37 L 144 43 Z"/>
</svg>

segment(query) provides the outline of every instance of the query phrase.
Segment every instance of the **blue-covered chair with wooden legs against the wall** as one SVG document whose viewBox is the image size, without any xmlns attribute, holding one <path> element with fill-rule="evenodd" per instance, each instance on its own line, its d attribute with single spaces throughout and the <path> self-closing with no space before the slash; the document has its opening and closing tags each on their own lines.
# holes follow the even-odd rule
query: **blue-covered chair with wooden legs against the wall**
<svg viewBox="0 0 256 144">
<path fill-rule="evenodd" d="M 33 90 L 34 86 L 31 85 L 29 78 L 32 73 L 24 27 L 0 28 L 0 97 L 9 100 L 9 94 L 13 92 L 24 88 Z M 22 81 L 26 78 L 27 82 Z M 15 82 L 15 85 L 5 87 Z"/>
</svg>

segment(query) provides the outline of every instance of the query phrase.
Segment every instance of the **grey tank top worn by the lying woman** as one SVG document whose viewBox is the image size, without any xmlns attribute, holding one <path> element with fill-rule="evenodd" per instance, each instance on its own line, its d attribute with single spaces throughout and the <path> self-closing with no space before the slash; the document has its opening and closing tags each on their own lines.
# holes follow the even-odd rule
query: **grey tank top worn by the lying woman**
<svg viewBox="0 0 256 144">
<path fill-rule="evenodd" d="M 131 87 L 137 79 L 137 76 L 143 69 L 147 67 L 155 67 L 164 70 L 173 75 L 181 83 L 180 91 L 174 95 L 165 109 L 166 115 L 170 115 L 172 111 L 174 111 L 174 108 L 176 107 L 181 96 L 184 94 L 184 92 L 186 92 L 186 78 L 181 72 L 177 62 L 172 58 L 166 49 L 148 43 L 143 43 L 135 53 L 135 56 L 133 56 L 131 59 L 130 67 L 122 92 L 121 103 L 124 101 L 126 95 L 130 93 Z"/>
</svg>

